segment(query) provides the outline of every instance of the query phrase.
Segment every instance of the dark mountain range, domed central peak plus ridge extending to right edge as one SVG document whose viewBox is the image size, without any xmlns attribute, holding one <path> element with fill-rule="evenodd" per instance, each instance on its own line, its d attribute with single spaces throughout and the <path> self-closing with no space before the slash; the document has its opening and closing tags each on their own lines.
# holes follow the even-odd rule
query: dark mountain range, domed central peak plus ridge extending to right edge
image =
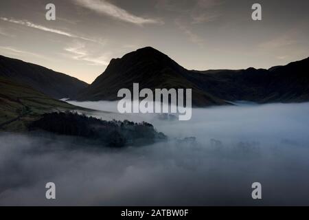
<svg viewBox="0 0 309 220">
<path fill-rule="evenodd" d="M 119 89 L 192 88 L 192 104 L 203 107 L 226 101 L 306 102 L 309 58 L 270 69 L 187 70 L 152 47 L 141 48 L 113 59 L 76 100 L 117 100 Z"/>
</svg>

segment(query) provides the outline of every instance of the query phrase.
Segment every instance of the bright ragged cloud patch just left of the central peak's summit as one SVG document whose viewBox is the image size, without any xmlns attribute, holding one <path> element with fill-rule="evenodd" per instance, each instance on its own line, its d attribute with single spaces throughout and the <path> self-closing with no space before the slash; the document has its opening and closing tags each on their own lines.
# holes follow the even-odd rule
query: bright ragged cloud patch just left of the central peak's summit
<svg viewBox="0 0 309 220">
<path fill-rule="evenodd" d="M 98 56 L 92 56 L 86 50 L 86 45 L 80 42 L 75 43 L 75 45 L 71 47 L 65 47 L 64 50 L 70 53 L 69 57 L 73 58 L 73 60 L 87 61 L 87 63 L 89 63 L 90 65 L 107 66 L 110 60 L 109 55 L 107 53 Z"/>
</svg>

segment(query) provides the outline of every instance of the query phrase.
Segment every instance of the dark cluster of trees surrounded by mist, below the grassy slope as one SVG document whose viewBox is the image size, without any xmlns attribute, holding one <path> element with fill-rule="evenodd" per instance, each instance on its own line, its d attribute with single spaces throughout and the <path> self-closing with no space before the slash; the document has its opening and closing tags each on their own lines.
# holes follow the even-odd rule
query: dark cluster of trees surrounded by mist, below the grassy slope
<svg viewBox="0 0 309 220">
<path fill-rule="evenodd" d="M 85 137 L 104 146 L 113 147 L 152 144 L 167 138 L 147 122 L 105 121 L 70 111 L 45 113 L 40 120 L 32 122 L 29 129 Z"/>
</svg>

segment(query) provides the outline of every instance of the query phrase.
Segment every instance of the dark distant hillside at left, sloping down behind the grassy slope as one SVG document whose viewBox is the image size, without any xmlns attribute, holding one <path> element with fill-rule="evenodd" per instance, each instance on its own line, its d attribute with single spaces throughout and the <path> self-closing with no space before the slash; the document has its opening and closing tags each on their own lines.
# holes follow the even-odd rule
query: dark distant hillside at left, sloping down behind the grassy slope
<svg viewBox="0 0 309 220">
<path fill-rule="evenodd" d="M 29 85 L 52 98 L 71 98 L 87 83 L 32 63 L 0 56 L 0 76 Z"/>
</svg>

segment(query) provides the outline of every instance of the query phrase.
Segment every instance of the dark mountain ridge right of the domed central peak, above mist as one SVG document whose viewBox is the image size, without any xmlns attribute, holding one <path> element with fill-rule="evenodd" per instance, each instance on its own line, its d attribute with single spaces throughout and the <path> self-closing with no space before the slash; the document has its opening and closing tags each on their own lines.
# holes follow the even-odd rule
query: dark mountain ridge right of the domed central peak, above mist
<svg viewBox="0 0 309 220">
<path fill-rule="evenodd" d="M 192 72 L 192 83 L 224 100 L 308 102 L 309 58 L 271 69 Z"/>
</svg>

